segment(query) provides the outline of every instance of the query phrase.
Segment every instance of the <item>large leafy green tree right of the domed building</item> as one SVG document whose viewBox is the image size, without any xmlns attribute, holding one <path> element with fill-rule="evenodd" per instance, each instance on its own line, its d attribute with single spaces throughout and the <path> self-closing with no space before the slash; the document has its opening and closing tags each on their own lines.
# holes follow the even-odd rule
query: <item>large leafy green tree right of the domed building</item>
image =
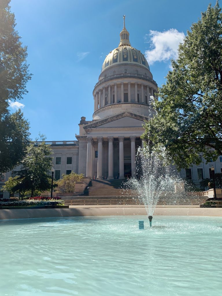
<svg viewBox="0 0 222 296">
<path fill-rule="evenodd" d="M 178 59 L 159 88 L 157 115 L 145 123 L 143 138 L 165 150 L 178 169 L 222 155 L 222 13 L 218 1 L 187 31 Z"/>
</svg>

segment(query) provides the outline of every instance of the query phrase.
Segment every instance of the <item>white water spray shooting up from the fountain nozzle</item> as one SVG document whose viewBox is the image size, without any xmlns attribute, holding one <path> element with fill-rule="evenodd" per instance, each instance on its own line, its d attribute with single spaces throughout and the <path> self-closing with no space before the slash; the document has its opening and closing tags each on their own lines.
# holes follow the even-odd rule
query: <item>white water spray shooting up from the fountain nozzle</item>
<svg viewBox="0 0 222 296">
<path fill-rule="evenodd" d="M 164 159 L 164 155 L 161 159 Z M 164 166 L 161 159 L 150 149 L 149 145 L 144 148 L 139 147 L 136 155 L 137 178 L 129 179 L 123 189 L 125 196 L 138 195 L 140 202 L 146 207 L 150 227 L 160 196 L 175 193 L 177 179 L 175 170 L 170 166 Z"/>
</svg>

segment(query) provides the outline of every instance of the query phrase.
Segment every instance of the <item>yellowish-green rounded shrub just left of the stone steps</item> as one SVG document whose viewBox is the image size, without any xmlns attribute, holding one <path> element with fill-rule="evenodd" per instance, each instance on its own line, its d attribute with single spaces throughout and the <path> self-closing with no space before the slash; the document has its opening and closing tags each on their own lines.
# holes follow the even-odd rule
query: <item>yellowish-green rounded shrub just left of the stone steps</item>
<svg viewBox="0 0 222 296">
<path fill-rule="evenodd" d="M 58 192 L 75 192 L 75 183 L 80 182 L 82 178 L 84 177 L 83 174 L 76 174 L 74 172 L 71 172 L 68 175 L 63 174 L 62 179 L 59 179 L 56 181 L 57 183 L 57 191 Z"/>
</svg>

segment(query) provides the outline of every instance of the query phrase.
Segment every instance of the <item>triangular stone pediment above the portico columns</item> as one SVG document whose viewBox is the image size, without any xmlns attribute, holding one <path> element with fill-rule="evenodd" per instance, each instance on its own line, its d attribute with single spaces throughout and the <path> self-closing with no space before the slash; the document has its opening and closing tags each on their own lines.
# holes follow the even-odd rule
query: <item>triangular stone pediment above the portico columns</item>
<svg viewBox="0 0 222 296">
<path fill-rule="evenodd" d="M 141 127 L 144 120 L 149 120 L 149 117 L 125 111 L 116 115 L 109 116 L 104 119 L 96 120 L 94 123 L 84 126 L 84 130 L 89 128 L 111 128 L 111 127 Z"/>
</svg>

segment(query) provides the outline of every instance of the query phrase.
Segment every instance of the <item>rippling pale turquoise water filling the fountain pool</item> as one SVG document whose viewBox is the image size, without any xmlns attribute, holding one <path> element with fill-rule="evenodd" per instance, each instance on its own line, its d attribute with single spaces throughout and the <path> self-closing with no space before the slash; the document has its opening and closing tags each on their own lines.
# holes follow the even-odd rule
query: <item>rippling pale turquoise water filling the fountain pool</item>
<svg viewBox="0 0 222 296">
<path fill-rule="evenodd" d="M 0 221 L 0 295 L 221 295 L 222 218 L 152 225 L 147 216 Z"/>
</svg>

